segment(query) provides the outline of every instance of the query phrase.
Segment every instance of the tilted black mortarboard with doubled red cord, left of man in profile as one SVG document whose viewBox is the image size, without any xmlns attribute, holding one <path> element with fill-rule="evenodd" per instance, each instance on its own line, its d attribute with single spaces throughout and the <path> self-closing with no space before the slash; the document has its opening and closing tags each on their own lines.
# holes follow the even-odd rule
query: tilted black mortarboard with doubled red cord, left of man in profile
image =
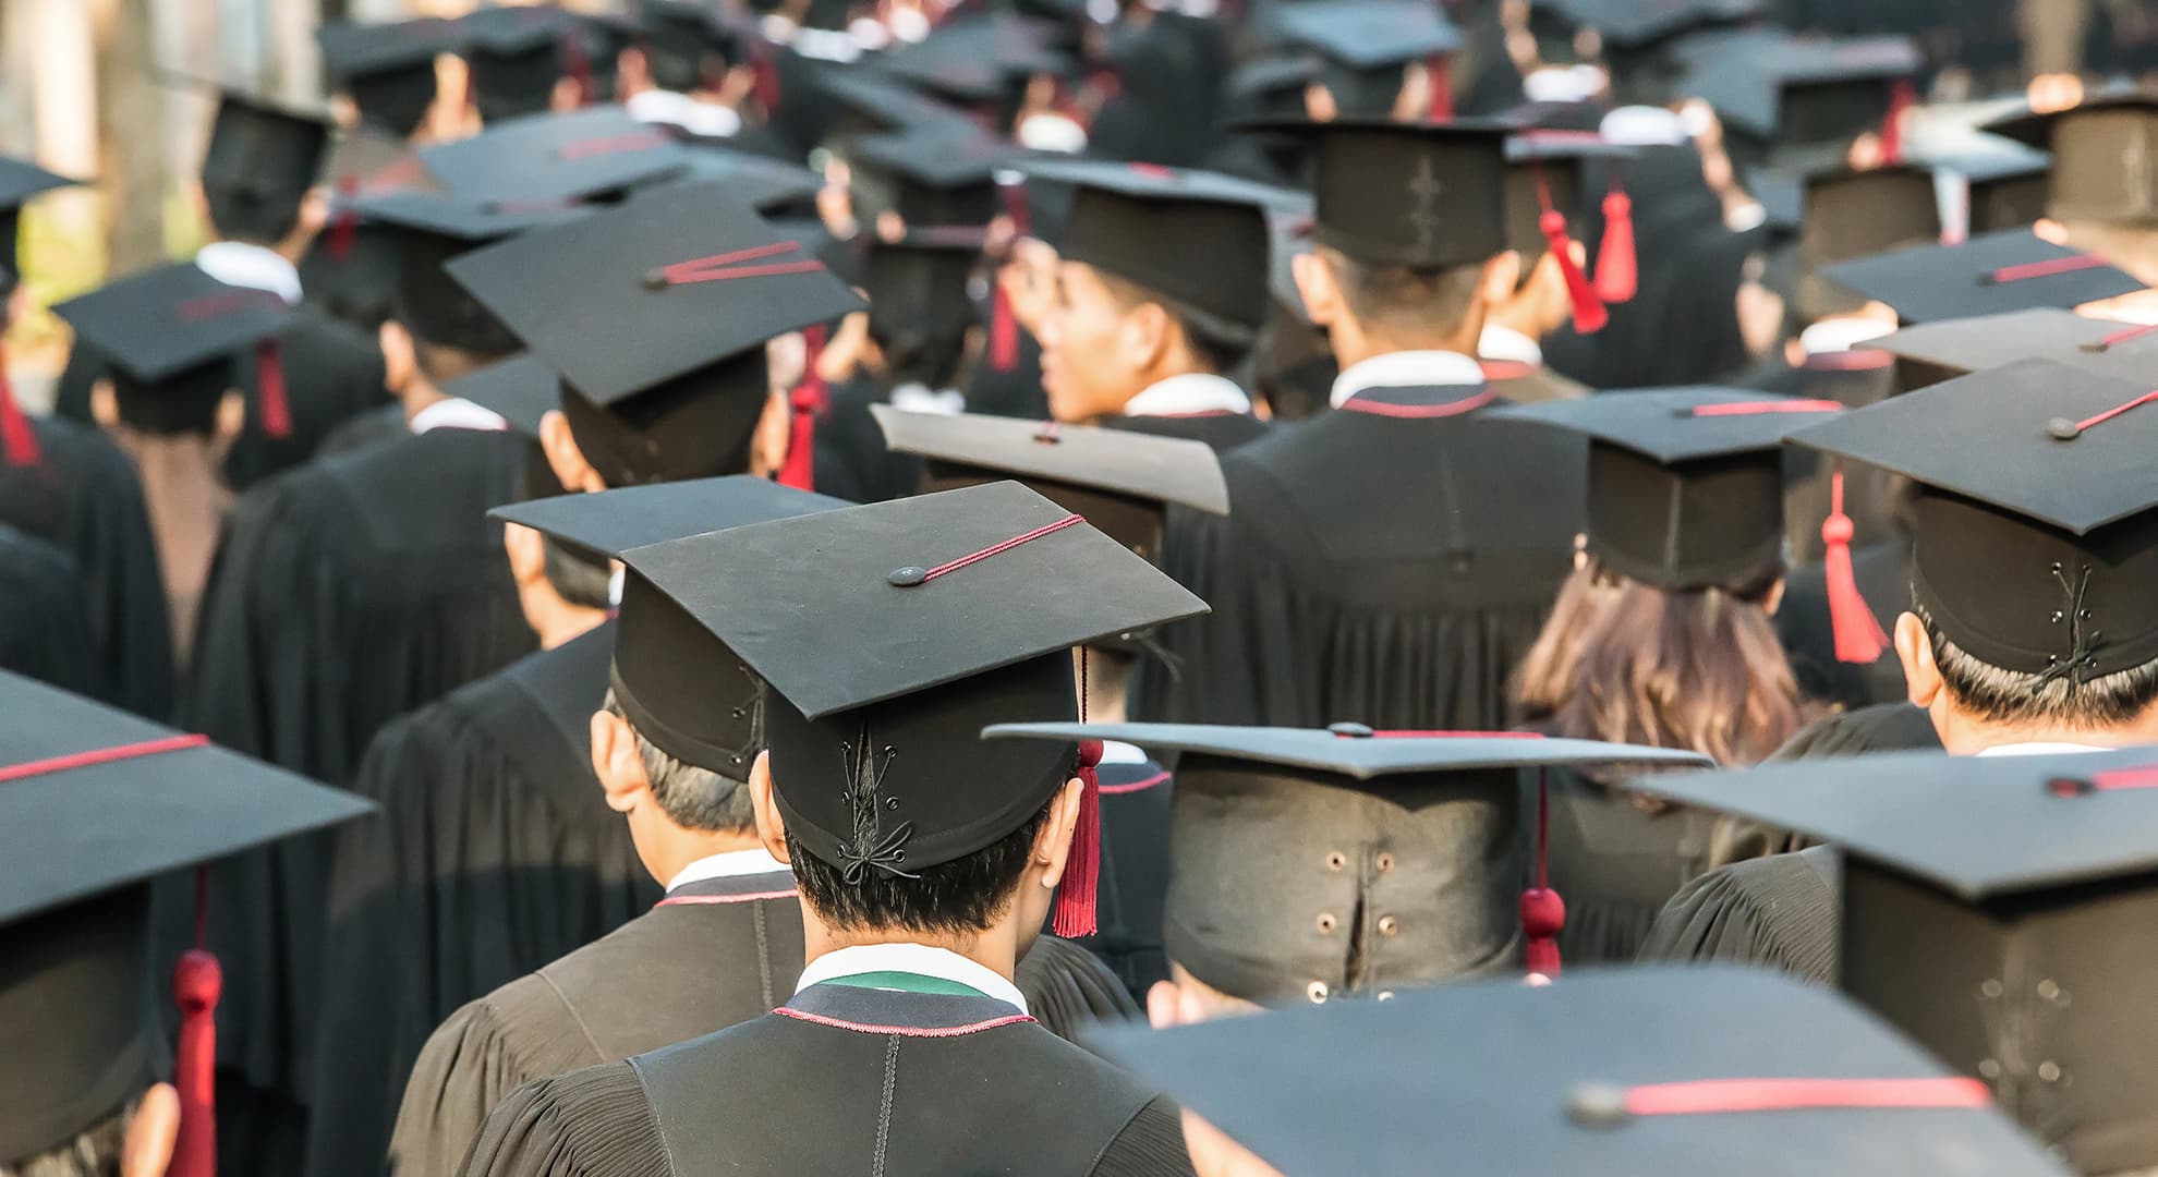
<svg viewBox="0 0 2158 1177">
<path fill-rule="evenodd" d="M 749 469 L 764 341 L 863 307 L 710 184 L 468 253 L 449 274 L 563 378 L 561 410 L 609 486 Z"/>
</svg>

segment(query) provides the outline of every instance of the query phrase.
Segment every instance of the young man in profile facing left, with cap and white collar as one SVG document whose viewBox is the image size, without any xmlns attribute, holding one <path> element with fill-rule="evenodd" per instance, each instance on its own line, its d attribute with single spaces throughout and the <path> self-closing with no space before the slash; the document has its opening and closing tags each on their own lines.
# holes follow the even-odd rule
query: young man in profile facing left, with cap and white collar
<svg viewBox="0 0 2158 1177">
<path fill-rule="evenodd" d="M 1055 300 L 1042 322 L 1042 389 L 1057 421 L 1204 441 L 1265 434 L 1230 376 L 1271 309 L 1278 192 L 1200 171 L 1032 164 L 1066 184 Z"/>
</svg>

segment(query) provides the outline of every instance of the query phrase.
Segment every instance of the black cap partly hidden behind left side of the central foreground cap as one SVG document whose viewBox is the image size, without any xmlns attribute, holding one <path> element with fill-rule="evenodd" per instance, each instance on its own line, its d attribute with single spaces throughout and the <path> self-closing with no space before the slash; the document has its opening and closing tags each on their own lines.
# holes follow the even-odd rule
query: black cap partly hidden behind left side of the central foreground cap
<svg viewBox="0 0 2158 1177">
<path fill-rule="evenodd" d="M 647 544 L 846 505 L 844 499 L 732 475 L 557 495 L 494 508 L 488 518 L 533 527 L 578 555 L 617 559 Z M 764 749 L 757 676 L 634 568 L 622 579 L 609 685 L 639 734 L 675 760 L 747 780 L 749 762 Z"/>
</svg>

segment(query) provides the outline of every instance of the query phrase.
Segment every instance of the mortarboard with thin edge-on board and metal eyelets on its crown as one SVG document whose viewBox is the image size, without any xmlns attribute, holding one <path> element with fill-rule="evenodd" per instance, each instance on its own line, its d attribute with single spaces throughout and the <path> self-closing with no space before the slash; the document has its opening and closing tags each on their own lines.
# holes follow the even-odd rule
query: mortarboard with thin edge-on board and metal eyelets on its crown
<svg viewBox="0 0 2158 1177">
<path fill-rule="evenodd" d="M 1517 968 L 1519 771 L 1707 762 L 1681 749 L 1353 726 L 1010 723 L 984 736 L 1176 752 L 1163 944 L 1202 983 L 1262 1004 Z"/>
</svg>

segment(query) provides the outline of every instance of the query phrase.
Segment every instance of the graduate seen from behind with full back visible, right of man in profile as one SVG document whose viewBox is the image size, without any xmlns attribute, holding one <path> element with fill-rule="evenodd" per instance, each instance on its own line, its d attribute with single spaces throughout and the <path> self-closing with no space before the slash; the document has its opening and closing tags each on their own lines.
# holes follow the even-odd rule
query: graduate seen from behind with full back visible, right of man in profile
<svg viewBox="0 0 2158 1177">
<path fill-rule="evenodd" d="M 1232 514 L 1172 512 L 1163 570 L 1213 618 L 1167 626 L 1142 719 L 1493 730 L 1565 581 L 1584 445 L 1519 421 L 1472 352 L 1519 285 L 1498 127 L 1323 123 L 1295 276 L 1342 371 L 1334 412 L 1221 462 Z M 1530 473 L 1532 477 L 1524 477 Z"/>
</svg>

